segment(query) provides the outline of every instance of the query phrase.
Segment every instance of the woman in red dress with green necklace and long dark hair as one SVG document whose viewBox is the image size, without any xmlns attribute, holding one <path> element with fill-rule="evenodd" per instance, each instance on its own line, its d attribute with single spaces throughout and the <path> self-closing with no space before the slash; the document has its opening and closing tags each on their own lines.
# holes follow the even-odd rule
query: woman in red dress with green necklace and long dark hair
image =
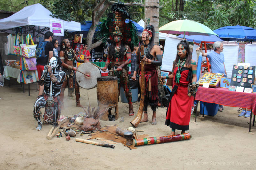
<svg viewBox="0 0 256 170">
<path fill-rule="evenodd" d="M 194 97 L 188 96 L 188 84 L 196 83 L 196 62 L 191 57 L 188 42 L 180 41 L 172 74 L 166 76 L 166 79 L 174 79 L 165 121 L 165 124 L 172 128 L 171 135 L 175 135 L 176 129 L 181 130 L 181 133 L 189 129 Z"/>
</svg>

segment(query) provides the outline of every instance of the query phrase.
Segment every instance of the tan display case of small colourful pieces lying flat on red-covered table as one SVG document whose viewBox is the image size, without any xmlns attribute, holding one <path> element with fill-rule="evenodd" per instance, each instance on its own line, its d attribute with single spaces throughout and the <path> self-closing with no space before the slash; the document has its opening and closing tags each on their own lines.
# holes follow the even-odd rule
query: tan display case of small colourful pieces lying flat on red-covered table
<svg viewBox="0 0 256 170">
<path fill-rule="evenodd" d="M 199 85 L 203 86 L 204 83 L 209 83 L 209 87 L 219 87 L 220 78 L 222 78 L 224 74 L 222 73 L 204 73 L 204 76 L 199 80 Z"/>
</svg>

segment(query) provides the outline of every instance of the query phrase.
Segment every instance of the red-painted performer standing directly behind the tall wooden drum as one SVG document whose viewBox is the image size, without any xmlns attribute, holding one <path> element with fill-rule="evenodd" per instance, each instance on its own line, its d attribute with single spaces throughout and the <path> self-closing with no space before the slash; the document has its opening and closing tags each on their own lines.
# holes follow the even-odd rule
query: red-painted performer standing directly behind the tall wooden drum
<svg viewBox="0 0 256 170">
<path fill-rule="evenodd" d="M 109 69 L 112 71 L 109 71 L 108 75 L 118 77 L 117 82 L 119 95 L 120 87 L 122 85 L 129 104 L 129 116 L 133 116 L 132 93 L 129 87 L 127 70 L 127 65 L 131 63 L 131 49 L 127 44 L 123 43 L 122 33 L 120 32 L 118 26 L 116 26 L 116 31 L 113 32 L 113 37 L 115 41 L 113 41 L 108 47 L 108 58 L 102 70 L 106 71 L 111 62 Z"/>
</svg>

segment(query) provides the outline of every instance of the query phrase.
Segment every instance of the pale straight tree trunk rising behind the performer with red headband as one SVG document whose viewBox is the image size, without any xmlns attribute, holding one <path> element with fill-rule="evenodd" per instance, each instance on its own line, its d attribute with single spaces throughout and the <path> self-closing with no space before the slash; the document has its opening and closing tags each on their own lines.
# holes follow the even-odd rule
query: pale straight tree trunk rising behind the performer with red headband
<svg viewBox="0 0 256 170">
<path fill-rule="evenodd" d="M 145 0 L 145 23 L 147 18 L 150 19 L 150 24 L 155 28 L 154 44 L 159 45 L 159 0 Z"/>
</svg>

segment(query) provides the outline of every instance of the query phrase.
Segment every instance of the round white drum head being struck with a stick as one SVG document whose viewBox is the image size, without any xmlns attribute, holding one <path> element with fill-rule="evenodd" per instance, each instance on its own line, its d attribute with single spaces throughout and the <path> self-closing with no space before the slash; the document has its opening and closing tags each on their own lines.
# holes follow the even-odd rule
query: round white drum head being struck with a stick
<svg viewBox="0 0 256 170">
<path fill-rule="evenodd" d="M 87 77 L 78 71 L 76 72 L 76 81 L 80 87 L 84 89 L 93 89 L 97 87 L 97 77 L 101 76 L 99 68 L 92 63 L 83 63 L 77 70 L 90 75 L 90 77 Z"/>
</svg>

